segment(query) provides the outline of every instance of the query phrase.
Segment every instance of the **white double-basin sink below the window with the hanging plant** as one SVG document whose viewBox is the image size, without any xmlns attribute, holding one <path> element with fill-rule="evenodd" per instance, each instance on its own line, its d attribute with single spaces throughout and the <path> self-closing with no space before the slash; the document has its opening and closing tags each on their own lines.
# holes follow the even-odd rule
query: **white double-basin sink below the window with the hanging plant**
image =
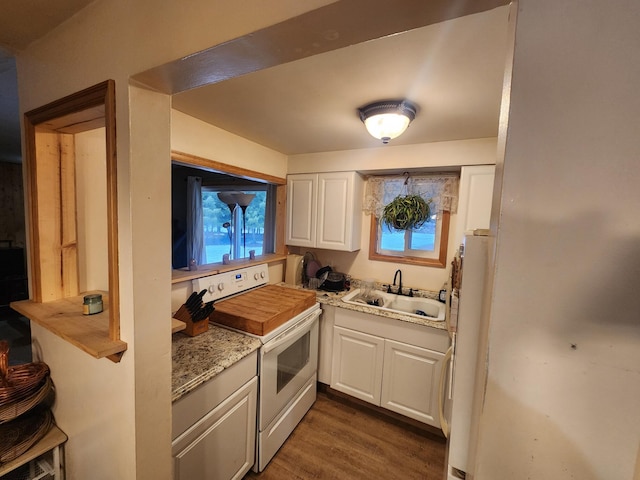
<svg viewBox="0 0 640 480">
<path fill-rule="evenodd" d="M 370 308 L 416 318 L 425 318 L 437 322 L 444 321 L 444 303 L 431 298 L 406 297 L 379 290 L 375 290 L 365 296 L 364 292 L 357 288 L 342 297 L 342 301 L 351 305 L 366 305 Z"/>
</svg>

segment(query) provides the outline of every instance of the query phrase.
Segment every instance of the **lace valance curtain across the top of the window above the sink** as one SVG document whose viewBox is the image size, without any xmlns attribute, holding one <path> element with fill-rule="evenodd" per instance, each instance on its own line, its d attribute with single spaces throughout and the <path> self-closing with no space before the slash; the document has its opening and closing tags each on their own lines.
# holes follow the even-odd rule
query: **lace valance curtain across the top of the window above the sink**
<svg viewBox="0 0 640 480">
<path fill-rule="evenodd" d="M 370 176 L 364 197 L 363 210 L 380 218 L 385 205 L 398 195 L 420 195 L 431 200 L 429 207 L 434 213 L 447 210 L 458 211 L 458 186 L 460 178 L 457 174 L 437 175 L 387 175 Z"/>
</svg>

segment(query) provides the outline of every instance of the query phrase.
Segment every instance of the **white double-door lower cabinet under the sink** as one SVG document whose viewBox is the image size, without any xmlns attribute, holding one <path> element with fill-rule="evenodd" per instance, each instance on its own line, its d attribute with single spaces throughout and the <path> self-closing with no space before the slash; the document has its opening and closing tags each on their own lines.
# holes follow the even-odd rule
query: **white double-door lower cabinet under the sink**
<svg viewBox="0 0 640 480">
<path fill-rule="evenodd" d="M 444 330 L 338 308 L 331 388 L 440 428 Z"/>
</svg>

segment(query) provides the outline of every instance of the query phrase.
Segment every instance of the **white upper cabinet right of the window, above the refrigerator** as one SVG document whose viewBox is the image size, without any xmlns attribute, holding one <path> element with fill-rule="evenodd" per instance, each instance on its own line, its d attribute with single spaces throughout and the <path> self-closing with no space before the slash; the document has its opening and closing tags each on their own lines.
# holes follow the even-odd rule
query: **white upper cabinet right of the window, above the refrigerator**
<svg viewBox="0 0 640 480">
<path fill-rule="evenodd" d="M 456 222 L 456 243 L 462 242 L 466 232 L 489 228 L 495 165 L 462 167 Z"/>
</svg>

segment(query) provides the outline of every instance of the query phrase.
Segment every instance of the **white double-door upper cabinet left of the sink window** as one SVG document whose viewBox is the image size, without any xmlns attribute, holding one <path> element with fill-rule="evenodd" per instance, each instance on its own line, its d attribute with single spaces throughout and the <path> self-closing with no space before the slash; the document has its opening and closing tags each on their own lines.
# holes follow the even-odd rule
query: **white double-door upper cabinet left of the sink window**
<svg viewBox="0 0 640 480">
<path fill-rule="evenodd" d="M 287 177 L 287 245 L 360 249 L 362 191 L 357 172 Z"/>
</svg>

